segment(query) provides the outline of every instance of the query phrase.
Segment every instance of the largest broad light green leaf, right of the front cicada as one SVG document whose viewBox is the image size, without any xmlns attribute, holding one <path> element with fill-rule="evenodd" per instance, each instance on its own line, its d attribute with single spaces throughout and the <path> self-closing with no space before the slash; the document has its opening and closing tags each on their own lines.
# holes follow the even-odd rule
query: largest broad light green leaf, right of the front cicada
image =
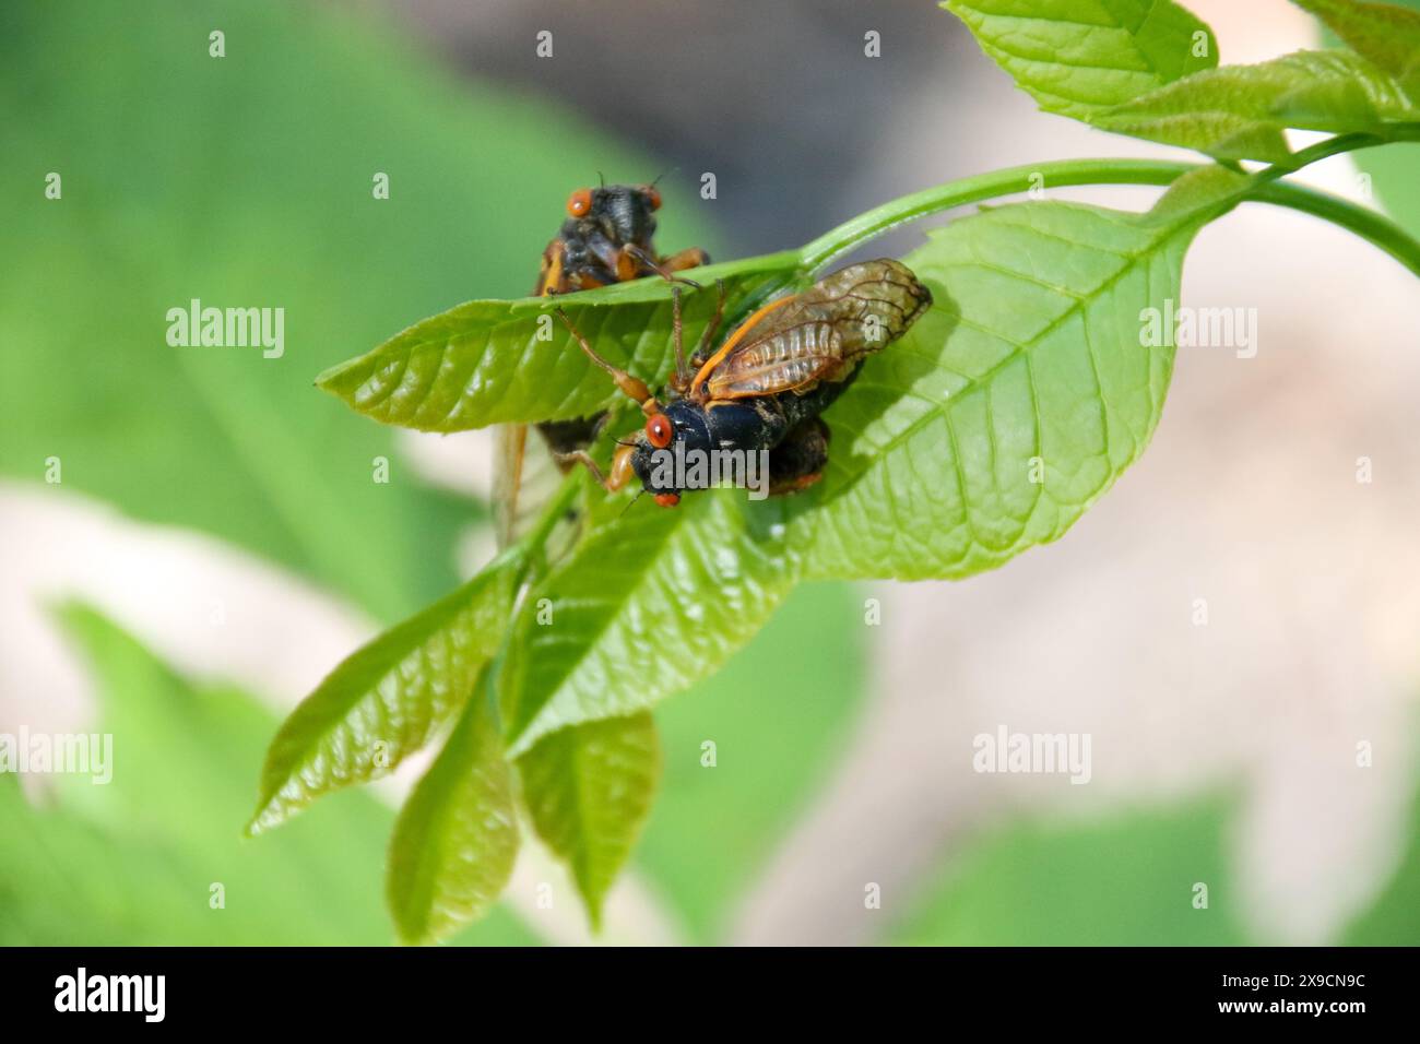
<svg viewBox="0 0 1420 1044">
<path fill-rule="evenodd" d="M 826 415 L 802 575 L 961 578 L 1061 537 L 1159 422 L 1173 348 L 1143 344 L 1143 310 L 1177 301 L 1200 223 L 1024 203 L 903 259 L 936 303 Z"/>
</svg>

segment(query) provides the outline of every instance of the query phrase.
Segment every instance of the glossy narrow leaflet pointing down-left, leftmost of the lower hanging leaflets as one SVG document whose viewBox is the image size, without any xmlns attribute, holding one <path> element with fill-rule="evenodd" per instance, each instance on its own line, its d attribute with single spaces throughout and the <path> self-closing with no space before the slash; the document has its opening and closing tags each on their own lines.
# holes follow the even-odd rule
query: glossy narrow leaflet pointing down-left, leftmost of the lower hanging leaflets
<svg viewBox="0 0 1420 1044">
<path fill-rule="evenodd" d="M 388 776 L 459 712 L 507 631 L 520 554 L 351 653 L 281 726 L 250 834 L 339 787 Z"/>
</svg>

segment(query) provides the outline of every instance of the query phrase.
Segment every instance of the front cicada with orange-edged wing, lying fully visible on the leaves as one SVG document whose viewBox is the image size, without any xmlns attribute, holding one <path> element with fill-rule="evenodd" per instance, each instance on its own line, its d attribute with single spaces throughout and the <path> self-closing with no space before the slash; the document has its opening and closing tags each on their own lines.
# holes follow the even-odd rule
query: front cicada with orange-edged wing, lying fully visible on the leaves
<svg viewBox="0 0 1420 1044">
<path fill-rule="evenodd" d="M 814 484 L 828 463 L 828 426 L 819 415 L 843 393 L 859 362 L 900 338 L 932 305 L 932 291 L 900 261 L 876 260 L 836 271 L 801 294 L 770 301 L 707 354 L 724 307 L 706 328 L 687 368 L 680 331 L 680 287 L 674 288 L 676 375 L 662 403 L 639 378 L 601 358 L 565 312 L 562 321 L 592 362 L 646 415 L 646 426 L 625 440 L 604 474 L 585 450 L 581 460 L 608 490 L 632 477 L 656 503 L 674 507 L 689 489 L 663 467 L 669 455 L 768 453 L 768 493 Z M 639 494 L 638 494 L 639 496 Z"/>
</svg>

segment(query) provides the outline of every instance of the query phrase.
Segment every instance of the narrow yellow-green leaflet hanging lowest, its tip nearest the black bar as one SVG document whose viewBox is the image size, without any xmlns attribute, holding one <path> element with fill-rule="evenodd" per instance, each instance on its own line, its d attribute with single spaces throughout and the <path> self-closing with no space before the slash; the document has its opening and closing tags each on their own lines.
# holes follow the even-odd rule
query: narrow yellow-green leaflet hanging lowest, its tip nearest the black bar
<svg viewBox="0 0 1420 1044">
<path fill-rule="evenodd" d="M 513 770 L 483 683 L 395 824 L 386 898 L 400 939 L 435 942 L 481 918 L 517 855 Z"/>
</svg>

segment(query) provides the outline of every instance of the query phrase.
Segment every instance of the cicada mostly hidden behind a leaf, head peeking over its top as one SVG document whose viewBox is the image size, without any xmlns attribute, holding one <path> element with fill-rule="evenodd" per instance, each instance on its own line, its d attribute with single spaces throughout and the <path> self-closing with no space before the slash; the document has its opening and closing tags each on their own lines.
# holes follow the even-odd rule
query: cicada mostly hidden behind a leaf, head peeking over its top
<svg viewBox="0 0 1420 1044">
<path fill-rule="evenodd" d="M 601 185 L 577 189 L 567 200 L 567 220 L 542 251 L 537 297 L 594 290 L 643 276 L 683 280 L 677 273 L 710 263 L 699 247 L 674 254 L 656 253 L 656 212 L 660 190 L 655 185 Z M 694 286 L 694 284 L 692 284 Z M 605 415 L 537 425 L 552 459 L 565 469 L 569 455 L 592 443 Z M 511 543 L 521 521 L 535 510 L 535 487 L 550 486 L 557 470 L 547 455 L 528 460 L 527 425 L 506 425 L 498 430 L 497 528 L 498 543 Z M 537 474 L 541 467 L 542 474 Z"/>
</svg>

